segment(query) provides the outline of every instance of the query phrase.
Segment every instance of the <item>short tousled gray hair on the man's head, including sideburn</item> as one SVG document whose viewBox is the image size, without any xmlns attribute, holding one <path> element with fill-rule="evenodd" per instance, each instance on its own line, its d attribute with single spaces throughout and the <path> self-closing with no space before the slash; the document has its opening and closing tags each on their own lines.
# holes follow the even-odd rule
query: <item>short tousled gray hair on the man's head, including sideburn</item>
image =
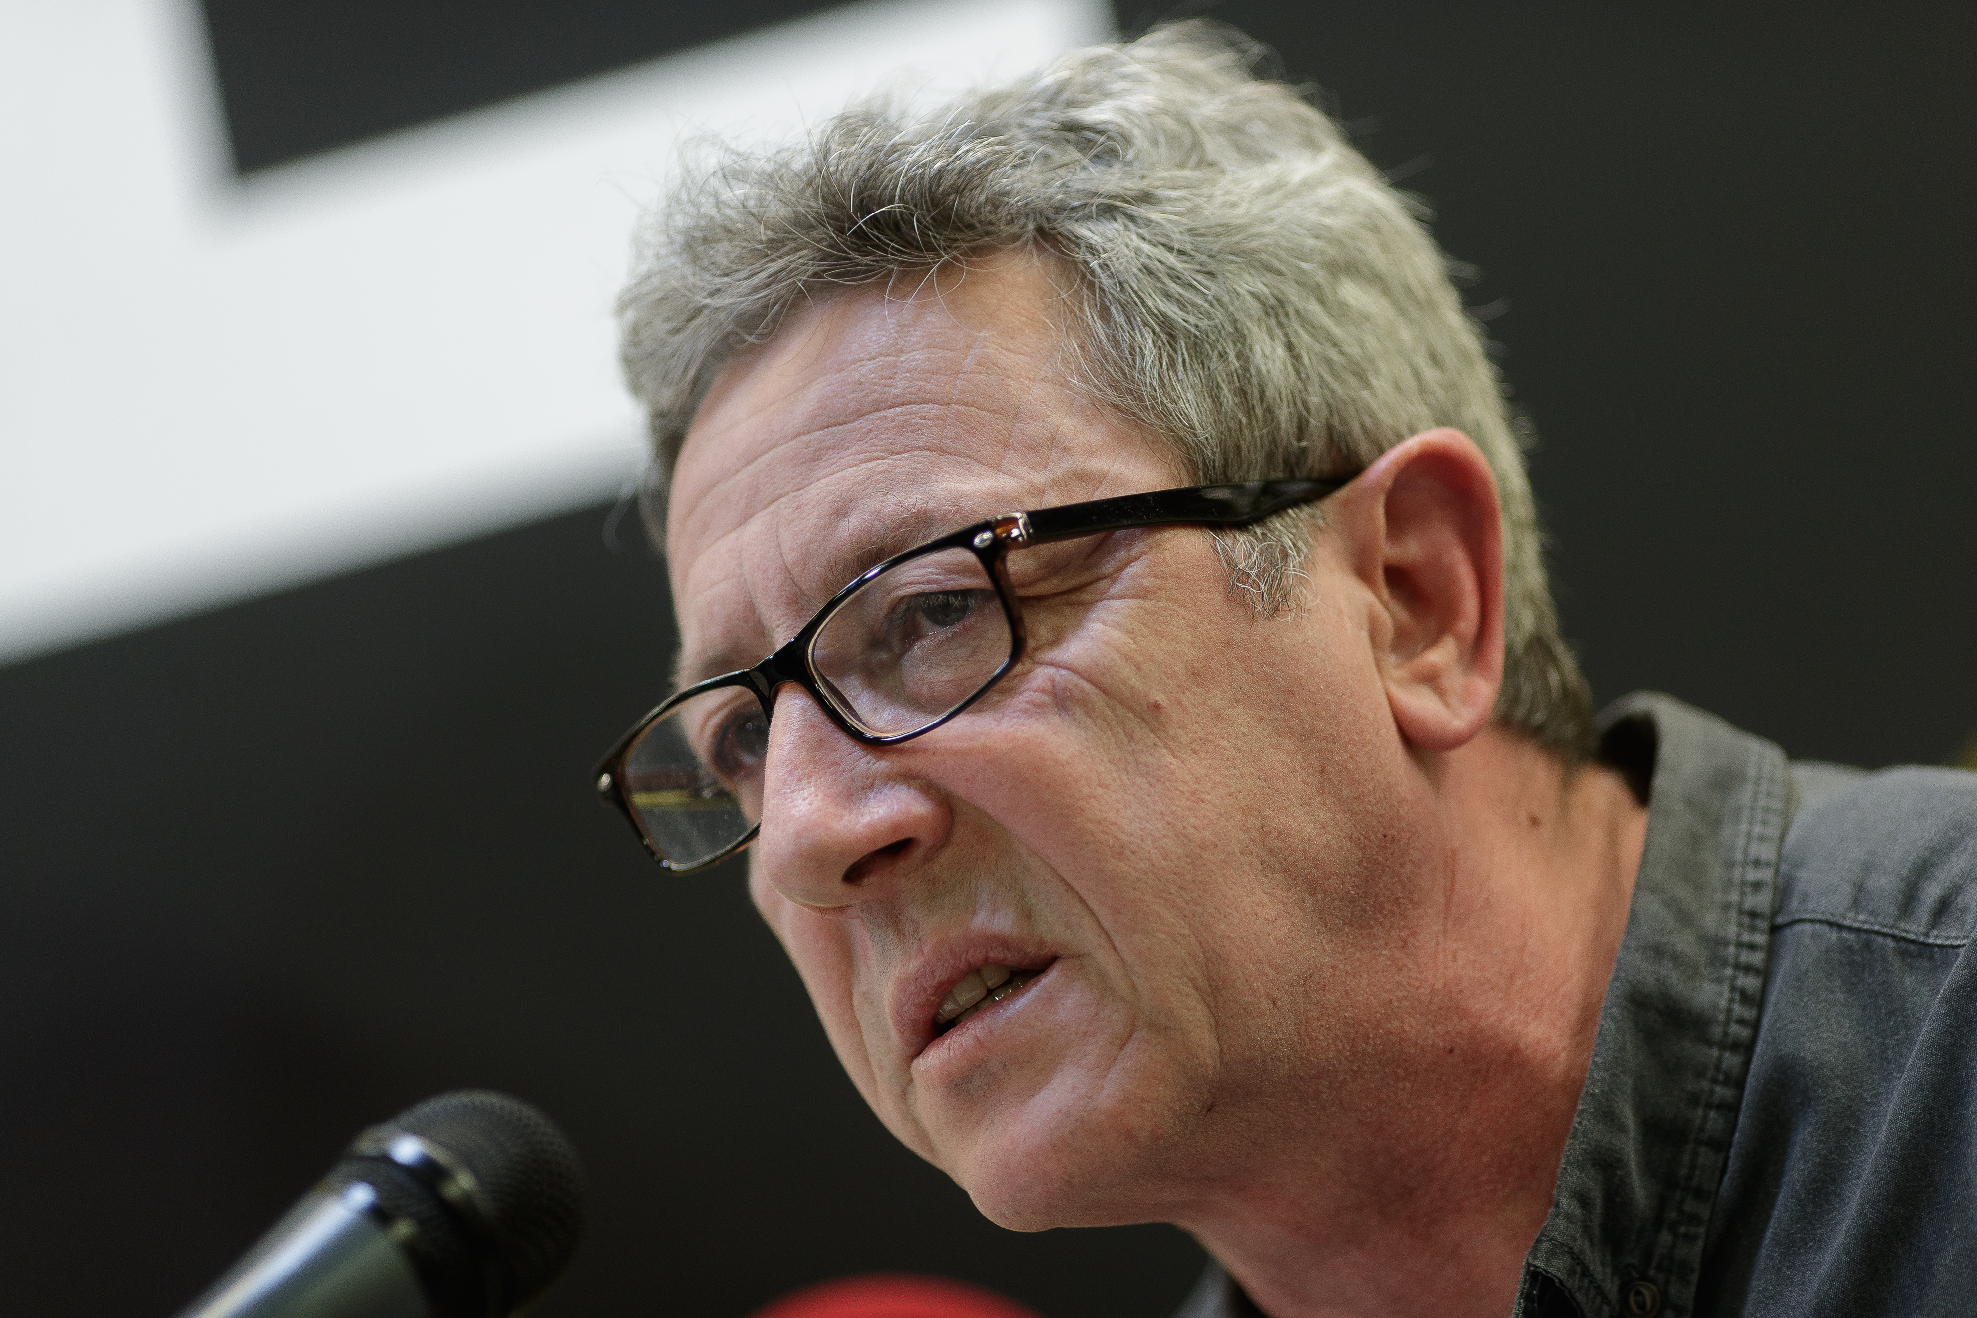
<svg viewBox="0 0 1977 1318">
<path fill-rule="evenodd" d="M 690 170 L 619 302 L 652 419 L 648 522 L 714 375 L 791 306 L 1038 247 L 1072 275 L 1077 383 L 1202 484 L 1350 472 L 1419 431 L 1467 433 L 1504 524 L 1495 717 L 1578 761 L 1591 700 L 1558 634 L 1504 385 L 1427 211 L 1255 63 L 1228 28 L 1174 24 L 931 111 L 854 105 L 799 144 Z M 1309 528 L 1279 514 L 1220 537 L 1232 587 L 1289 605 Z"/>
</svg>

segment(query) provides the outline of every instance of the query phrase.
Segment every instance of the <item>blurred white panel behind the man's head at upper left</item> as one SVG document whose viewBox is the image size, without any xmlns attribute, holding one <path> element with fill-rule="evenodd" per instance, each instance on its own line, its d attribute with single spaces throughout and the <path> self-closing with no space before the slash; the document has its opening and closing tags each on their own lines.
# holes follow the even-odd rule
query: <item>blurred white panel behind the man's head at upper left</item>
<svg viewBox="0 0 1977 1318">
<path fill-rule="evenodd" d="M 241 182 L 190 0 L 0 4 L 0 660 L 609 498 L 611 300 L 682 138 L 1109 24 L 876 0 Z"/>
</svg>

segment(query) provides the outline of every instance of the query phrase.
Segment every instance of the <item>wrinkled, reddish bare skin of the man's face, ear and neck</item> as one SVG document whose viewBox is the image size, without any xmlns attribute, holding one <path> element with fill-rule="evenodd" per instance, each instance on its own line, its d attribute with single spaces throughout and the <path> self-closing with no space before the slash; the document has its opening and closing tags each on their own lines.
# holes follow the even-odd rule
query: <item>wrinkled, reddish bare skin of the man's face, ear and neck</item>
<svg viewBox="0 0 1977 1318">
<path fill-rule="evenodd" d="M 852 290 L 728 366 L 670 494 L 684 678 L 967 522 L 1186 484 L 1066 383 L 1050 277 Z M 1014 555 L 1024 662 L 900 747 L 785 688 L 749 883 L 874 1112 L 994 1221 L 1178 1221 L 1279 1314 L 1382 1308 L 1380 1261 L 1435 1249 L 1467 1286 L 1439 1312 L 1501 1312 L 1645 816 L 1487 721 L 1499 530 L 1465 437 L 1325 510 L 1275 618 L 1198 530 Z M 1048 972 L 929 1043 L 983 962 Z"/>
</svg>

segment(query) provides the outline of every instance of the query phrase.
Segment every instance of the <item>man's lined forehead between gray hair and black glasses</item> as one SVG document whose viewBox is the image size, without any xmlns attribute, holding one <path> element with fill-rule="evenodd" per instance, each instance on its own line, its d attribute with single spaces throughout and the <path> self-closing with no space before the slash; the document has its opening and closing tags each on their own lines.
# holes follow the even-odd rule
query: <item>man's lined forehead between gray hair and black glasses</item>
<svg viewBox="0 0 1977 1318">
<path fill-rule="evenodd" d="M 1056 296 L 1030 259 L 858 288 L 722 371 L 668 498 L 684 678 L 755 662 L 886 553 L 1176 482 L 1159 443 L 1070 383 Z"/>
</svg>

